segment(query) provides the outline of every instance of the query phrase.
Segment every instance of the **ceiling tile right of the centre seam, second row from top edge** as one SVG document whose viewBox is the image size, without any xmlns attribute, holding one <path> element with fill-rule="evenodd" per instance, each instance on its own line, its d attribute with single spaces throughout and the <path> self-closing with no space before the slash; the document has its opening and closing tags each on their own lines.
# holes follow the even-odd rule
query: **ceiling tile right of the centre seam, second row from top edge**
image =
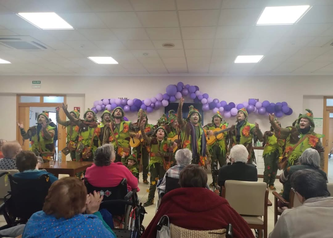
<svg viewBox="0 0 333 238">
<path fill-rule="evenodd" d="M 178 11 L 180 26 L 216 26 L 220 10 Z"/>
</svg>

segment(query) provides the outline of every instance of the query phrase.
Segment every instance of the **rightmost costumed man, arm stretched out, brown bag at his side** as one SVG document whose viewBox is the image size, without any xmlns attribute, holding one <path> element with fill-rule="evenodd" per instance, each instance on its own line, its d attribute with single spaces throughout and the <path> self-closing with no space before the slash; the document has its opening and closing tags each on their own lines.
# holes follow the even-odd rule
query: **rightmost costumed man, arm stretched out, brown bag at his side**
<svg viewBox="0 0 333 238">
<path fill-rule="evenodd" d="M 309 109 L 305 109 L 306 114 L 300 114 L 298 119 L 287 128 L 281 128 L 274 121 L 274 114 L 269 115 L 274 134 L 279 139 L 285 139 L 285 148 L 279 159 L 279 166 L 285 169 L 298 162 L 304 150 L 308 148 L 316 149 L 320 155 L 320 167 L 324 168 L 324 148 L 320 141 L 322 134 L 314 132 L 313 113 Z"/>
</svg>

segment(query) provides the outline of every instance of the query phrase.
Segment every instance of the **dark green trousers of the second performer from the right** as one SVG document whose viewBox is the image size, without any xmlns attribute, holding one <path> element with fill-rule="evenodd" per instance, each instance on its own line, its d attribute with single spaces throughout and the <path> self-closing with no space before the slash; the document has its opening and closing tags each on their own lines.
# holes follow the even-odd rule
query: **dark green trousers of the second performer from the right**
<svg viewBox="0 0 333 238">
<path fill-rule="evenodd" d="M 264 182 L 268 186 L 274 185 L 276 173 L 277 173 L 277 162 L 279 159 L 279 150 L 273 151 L 271 154 L 265 154 L 263 156 L 265 170 L 264 170 Z"/>
</svg>

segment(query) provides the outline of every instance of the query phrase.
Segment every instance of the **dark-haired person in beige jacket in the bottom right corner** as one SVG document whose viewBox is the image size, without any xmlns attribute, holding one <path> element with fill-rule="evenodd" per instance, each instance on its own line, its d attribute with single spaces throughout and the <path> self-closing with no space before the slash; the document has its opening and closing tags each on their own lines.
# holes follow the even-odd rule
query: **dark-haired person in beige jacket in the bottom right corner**
<svg viewBox="0 0 333 238">
<path fill-rule="evenodd" d="M 285 210 L 269 238 L 332 237 L 333 197 L 322 174 L 298 170 L 291 176 L 291 186 L 302 205 Z"/>
</svg>

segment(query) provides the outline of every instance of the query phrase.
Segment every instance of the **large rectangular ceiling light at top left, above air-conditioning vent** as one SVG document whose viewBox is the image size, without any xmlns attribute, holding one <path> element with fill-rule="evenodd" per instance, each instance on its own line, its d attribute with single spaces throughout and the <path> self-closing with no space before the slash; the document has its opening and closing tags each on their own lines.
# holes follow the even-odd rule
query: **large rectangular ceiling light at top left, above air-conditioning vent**
<svg viewBox="0 0 333 238">
<path fill-rule="evenodd" d="M 74 29 L 54 12 L 21 12 L 17 15 L 40 29 Z"/>
</svg>

